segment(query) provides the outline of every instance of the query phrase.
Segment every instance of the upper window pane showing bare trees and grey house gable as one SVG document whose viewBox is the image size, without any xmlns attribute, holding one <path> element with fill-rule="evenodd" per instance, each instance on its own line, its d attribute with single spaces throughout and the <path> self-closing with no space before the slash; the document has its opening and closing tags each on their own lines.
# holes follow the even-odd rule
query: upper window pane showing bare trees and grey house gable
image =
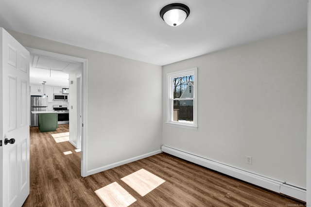
<svg viewBox="0 0 311 207">
<path fill-rule="evenodd" d="M 193 75 L 173 78 L 173 98 L 193 98 Z"/>
</svg>

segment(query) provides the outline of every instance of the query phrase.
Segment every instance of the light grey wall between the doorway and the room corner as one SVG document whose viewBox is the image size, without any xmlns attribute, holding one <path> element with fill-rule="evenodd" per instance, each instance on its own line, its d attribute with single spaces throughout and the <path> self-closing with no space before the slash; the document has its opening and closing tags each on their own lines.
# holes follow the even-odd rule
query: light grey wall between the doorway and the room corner
<svg viewBox="0 0 311 207">
<path fill-rule="evenodd" d="M 88 171 L 160 149 L 161 66 L 8 32 L 24 47 L 88 60 Z"/>
</svg>

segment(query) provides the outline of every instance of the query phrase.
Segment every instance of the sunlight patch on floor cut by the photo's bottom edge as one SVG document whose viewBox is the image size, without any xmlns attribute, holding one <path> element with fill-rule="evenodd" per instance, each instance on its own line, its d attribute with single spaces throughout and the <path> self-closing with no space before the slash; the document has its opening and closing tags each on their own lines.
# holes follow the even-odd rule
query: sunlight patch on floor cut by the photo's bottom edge
<svg viewBox="0 0 311 207">
<path fill-rule="evenodd" d="M 136 199 L 117 182 L 113 182 L 95 191 L 107 207 L 128 207 Z"/>
</svg>

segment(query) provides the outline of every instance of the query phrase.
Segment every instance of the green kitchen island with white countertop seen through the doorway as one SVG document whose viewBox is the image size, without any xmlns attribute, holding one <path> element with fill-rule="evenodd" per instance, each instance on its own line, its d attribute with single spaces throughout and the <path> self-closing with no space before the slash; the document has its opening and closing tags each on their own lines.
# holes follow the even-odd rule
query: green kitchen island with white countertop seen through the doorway
<svg viewBox="0 0 311 207">
<path fill-rule="evenodd" d="M 38 114 L 38 128 L 40 132 L 55 131 L 57 126 L 57 111 L 31 111 Z"/>
</svg>

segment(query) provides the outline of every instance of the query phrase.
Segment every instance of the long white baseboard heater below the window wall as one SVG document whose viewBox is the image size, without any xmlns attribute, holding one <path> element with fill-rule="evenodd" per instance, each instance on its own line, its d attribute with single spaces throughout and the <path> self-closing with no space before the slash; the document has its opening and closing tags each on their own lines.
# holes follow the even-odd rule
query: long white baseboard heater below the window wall
<svg viewBox="0 0 311 207">
<path fill-rule="evenodd" d="M 174 149 L 169 146 L 163 145 L 161 147 L 161 150 L 162 152 L 207 167 L 211 170 L 215 170 L 217 172 L 238 178 L 240 180 L 268 189 L 270 191 L 275 191 L 277 193 L 281 193 L 306 202 L 307 196 L 305 189 L 301 189 L 293 185 L 288 185 L 284 182 L 270 179 L 261 175 L 256 175 L 254 173 L 250 173 L 235 167 L 231 167 L 210 159 L 192 155 L 190 153 L 183 152 L 181 150 Z"/>
</svg>

